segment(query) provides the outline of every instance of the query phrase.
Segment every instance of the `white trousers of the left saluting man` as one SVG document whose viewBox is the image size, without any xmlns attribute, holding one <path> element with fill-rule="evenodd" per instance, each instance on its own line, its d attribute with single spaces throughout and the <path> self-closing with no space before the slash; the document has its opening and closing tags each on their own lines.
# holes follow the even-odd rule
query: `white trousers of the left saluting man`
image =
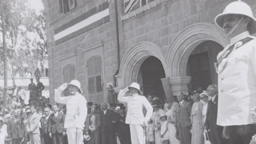
<svg viewBox="0 0 256 144">
<path fill-rule="evenodd" d="M 84 144 L 83 130 L 79 128 L 67 128 L 69 144 Z"/>
</svg>

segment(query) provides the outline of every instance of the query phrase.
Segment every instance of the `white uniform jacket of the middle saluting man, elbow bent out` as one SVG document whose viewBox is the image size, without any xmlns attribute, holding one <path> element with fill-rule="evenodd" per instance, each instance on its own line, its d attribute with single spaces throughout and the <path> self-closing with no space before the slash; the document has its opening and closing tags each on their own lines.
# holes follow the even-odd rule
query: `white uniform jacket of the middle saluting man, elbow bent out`
<svg viewBox="0 0 256 144">
<path fill-rule="evenodd" d="M 123 92 L 123 90 L 120 90 L 117 99 L 122 102 L 127 102 L 128 110 L 125 123 L 143 124 L 144 122 L 146 122 L 147 124 L 147 121 L 150 120 L 153 113 L 153 108 L 148 100 L 144 96 L 140 95 L 129 97 L 124 97 L 124 95 L 125 93 Z M 147 114 L 145 117 L 142 112 L 143 105 L 147 110 Z"/>
</svg>

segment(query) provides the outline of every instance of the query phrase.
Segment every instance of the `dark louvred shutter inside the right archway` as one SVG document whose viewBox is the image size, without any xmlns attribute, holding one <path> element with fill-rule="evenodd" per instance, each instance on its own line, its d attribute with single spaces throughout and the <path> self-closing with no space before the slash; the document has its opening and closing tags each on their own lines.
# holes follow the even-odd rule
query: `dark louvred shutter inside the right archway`
<svg viewBox="0 0 256 144">
<path fill-rule="evenodd" d="M 192 77 L 192 90 L 198 87 L 206 89 L 211 85 L 211 73 L 209 67 L 208 52 L 203 52 L 189 57 L 190 76 Z"/>
</svg>

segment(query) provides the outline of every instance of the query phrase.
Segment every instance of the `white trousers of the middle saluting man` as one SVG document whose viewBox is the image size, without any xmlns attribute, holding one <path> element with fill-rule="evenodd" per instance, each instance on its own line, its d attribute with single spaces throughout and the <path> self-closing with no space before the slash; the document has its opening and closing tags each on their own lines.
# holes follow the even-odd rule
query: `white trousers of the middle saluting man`
<svg viewBox="0 0 256 144">
<path fill-rule="evenodd" d="M 132 144 L 145 144 L 145 132 L 141 124 L 130 124 Z"/>
</svg>

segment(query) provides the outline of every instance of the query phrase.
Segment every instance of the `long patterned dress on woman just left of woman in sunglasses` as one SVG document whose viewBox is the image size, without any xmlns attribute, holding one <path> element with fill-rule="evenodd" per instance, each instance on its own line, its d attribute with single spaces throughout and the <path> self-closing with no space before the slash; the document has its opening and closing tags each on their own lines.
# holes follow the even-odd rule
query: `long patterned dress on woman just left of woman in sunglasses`
<svg viewBox="0 0 256 144">
<path fill-rule="evenodd" d="M 201 101 L 194 102 L 191 109 L 191 144 L 204 144 L 203 137 L 203 103 Z"/>
</svg>

